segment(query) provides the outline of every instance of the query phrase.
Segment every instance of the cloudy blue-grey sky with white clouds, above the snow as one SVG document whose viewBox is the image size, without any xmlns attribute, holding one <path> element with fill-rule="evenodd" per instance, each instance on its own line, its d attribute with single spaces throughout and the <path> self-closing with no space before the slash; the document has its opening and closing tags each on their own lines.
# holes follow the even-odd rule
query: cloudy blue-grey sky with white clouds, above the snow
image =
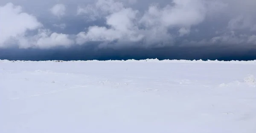
<svg viewBox="0 0 256 133">
<path fill-rule="evenodd" d="M 119 58 L 245 54 L 256 46 L 255 7 L 256 0 L 1 0 L 0 57 L 74 49 Z"/>
</svg>

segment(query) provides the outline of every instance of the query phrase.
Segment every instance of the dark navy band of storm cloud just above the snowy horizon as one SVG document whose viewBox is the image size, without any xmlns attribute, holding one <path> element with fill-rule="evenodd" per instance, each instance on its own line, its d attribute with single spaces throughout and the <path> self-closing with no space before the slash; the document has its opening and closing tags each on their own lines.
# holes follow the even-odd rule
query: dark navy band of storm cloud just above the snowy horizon
<svg viewBox="0 0 256 133">
<path fill-rule="evenodd" d="M 158 47 L 158 48 L 104 48 L 96 45 L 75 46 L 69 49 L 0 49 L 0 59 L 8 60 L 127 60 L 127 59 L 186 59 L 186 60 L 255 60 L 256 48 L 239 45 Z"/>
</svg>

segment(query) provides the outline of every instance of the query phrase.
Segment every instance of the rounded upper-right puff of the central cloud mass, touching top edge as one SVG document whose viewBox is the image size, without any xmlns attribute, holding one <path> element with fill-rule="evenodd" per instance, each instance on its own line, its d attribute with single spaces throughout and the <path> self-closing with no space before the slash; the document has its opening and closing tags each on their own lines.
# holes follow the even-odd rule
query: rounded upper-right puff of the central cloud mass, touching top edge
<svg viewBox="0 0 256 133">
<path fill-rule="evenodd" d="M 143 22 L 148 25 L 151 22 L 153 25 L 158 23 L 166 27 L 190 27 L 205 18 L 206 8 L 202 0 L 173 0 L 173 4 L 174 6 L 168 4 L 164 8 L 150 6 Z"/>
</svg>

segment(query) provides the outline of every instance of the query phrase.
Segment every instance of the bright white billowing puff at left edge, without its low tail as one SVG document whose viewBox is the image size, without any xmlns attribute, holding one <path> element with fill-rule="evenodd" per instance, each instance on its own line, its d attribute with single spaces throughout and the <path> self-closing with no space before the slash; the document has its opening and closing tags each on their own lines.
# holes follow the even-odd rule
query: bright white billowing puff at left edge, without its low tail
<svg viewBox="0 0 256 133">
<path fill-rule="evenodd" d="M 0 21 L 0 47 L 7 47 L 12 39 L 25 36 L 27 31 L 42 26 L 36 17 L 22 12 L 20 6 L 12 3 L 0 6 Z"/>
</svg>

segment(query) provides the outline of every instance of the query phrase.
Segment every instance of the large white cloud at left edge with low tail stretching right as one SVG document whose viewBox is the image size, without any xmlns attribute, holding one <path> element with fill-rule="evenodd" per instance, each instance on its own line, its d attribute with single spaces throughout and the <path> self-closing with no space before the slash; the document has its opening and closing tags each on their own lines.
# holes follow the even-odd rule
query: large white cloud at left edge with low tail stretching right
<svg viewBox="0 0 256 133">
<path fill-rule="evenodd" d="M 35 16 L 24 13 L 20 6 L 12 3 L 0 6 L 0 20 L 0 47 L 50 48 L 74 44 L 69 35 L 45 30 Z"/>
</svg>

